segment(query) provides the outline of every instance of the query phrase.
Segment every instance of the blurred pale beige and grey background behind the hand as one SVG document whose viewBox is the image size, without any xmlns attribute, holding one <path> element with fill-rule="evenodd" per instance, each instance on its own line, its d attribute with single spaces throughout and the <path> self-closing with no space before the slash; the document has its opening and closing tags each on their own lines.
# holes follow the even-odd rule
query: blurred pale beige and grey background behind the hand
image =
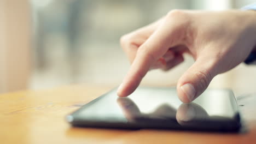
<svg viewBox="0 0 256 144">
<path fill-rule="evenodd" d="M 121 35 L 172 9 L 225 10 L 254 1 L 238 0 L 2 0 L 0 1 L 0 92 L 45 89 L 74 83 L 118 86 L 129 62 Z M 142 85 L 175 86 L 193 64 L 150 71 Z M 218 75 L 210 87 L 236 95 L 256 92 L 256 66 L 240 64 Z"/>
</svg>

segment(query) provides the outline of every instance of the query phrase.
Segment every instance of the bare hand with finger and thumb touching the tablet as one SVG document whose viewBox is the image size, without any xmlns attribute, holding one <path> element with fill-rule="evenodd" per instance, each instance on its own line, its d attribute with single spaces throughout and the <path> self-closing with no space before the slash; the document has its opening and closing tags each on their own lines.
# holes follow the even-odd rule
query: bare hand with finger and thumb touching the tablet
<svg viewBox="0 0 256 144">
<path fill-rule="evenodd" d="M 189 53 L 195 62 L 177 83 L 179 99 L 189 103 L 205 91 L 214 76 L 236 67 L 254 50 L 256 13 L 172 10 L 124 35 L 120 43 L 131 67 L 119 86 L 119 97 L 135 91 L 150 69 L 172 69 Z"/>
</svg>

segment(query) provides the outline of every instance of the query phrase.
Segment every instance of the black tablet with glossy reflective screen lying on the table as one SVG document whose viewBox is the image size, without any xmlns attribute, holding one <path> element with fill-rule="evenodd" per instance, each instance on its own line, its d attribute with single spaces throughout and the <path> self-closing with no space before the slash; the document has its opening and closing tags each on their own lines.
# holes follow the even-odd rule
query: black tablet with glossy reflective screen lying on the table
<svg viewBox="0 0 256 144">
<path fill-rule="evenodd" d="M 207 89 L 184 104 L 176 88 L 139 87 L 129 97 L 117 89 L 103 94 L 66 117 L 76 127 L 238 131 L 240 115 L 229 89 Z"/>
</svg>

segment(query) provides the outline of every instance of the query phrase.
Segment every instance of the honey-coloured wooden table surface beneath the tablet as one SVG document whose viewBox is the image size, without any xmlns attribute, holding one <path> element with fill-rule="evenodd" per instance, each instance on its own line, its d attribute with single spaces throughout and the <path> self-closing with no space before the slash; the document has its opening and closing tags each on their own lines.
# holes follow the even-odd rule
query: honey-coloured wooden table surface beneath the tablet
<svg viewBox="0 0 256 144">
<path fill-rule="evenodd" d="M 79 85 L 2 94 L 0 143 L 256 143 L 256 108 L 246 110 L 245 104 L 249 130 L 244 134 L 72 128 L 65 121 L 68 113 L 109 89 Z"/>
</svg>

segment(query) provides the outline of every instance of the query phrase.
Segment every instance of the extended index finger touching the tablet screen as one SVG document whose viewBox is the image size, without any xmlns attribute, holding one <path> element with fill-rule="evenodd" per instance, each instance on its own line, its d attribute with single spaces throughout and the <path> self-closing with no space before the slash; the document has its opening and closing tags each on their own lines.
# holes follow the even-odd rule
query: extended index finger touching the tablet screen
<svg viewBox="0 0 256 144">
<path fill-rule="evenodd" d="M 163 22 L 144 44 L 139 47 L 131 68 L 118 88 L 119 97 L 130 95 L 138 87 L 150 66 L 162 57 L 169 47 L 178 43 L 177 29 Z"/>
</svg>

